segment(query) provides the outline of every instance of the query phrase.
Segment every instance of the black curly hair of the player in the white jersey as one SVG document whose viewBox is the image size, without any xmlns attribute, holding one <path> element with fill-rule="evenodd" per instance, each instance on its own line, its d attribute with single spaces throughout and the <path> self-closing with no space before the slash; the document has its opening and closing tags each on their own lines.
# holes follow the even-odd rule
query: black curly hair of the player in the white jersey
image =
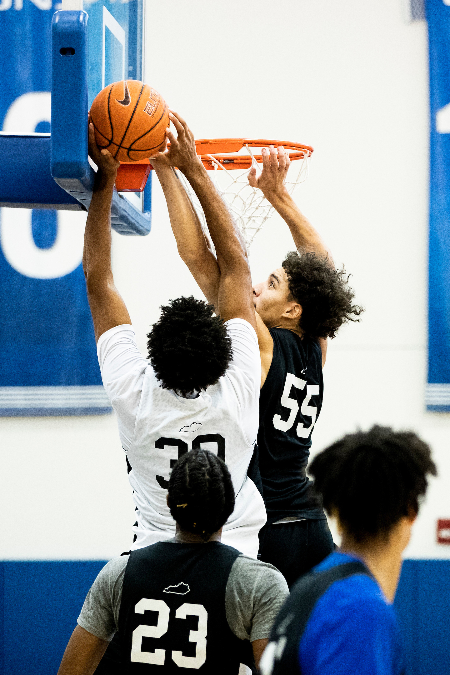
<svg viewBox="0 0 450 675">
<path fill-rule="evenodd" d="M 164 389 L 186 396 L 217 383 L 233 356 L 227 327 L 204 300 L 175 298 L 148 333 L 148 358 Z"/>
</svg>

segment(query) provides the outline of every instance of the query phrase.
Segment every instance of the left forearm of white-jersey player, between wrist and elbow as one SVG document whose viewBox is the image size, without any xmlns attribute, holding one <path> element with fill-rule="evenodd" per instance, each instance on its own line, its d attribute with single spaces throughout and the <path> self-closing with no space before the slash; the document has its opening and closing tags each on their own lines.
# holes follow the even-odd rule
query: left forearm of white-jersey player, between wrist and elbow
<svg viewBox="0 0 450 675">
<path fill-rule="evenodd" d="M 96 177 L 84 230 L 83 269 L 88 289 L 113 283 L 111 270 L 111 200 L 110 178 Z"/>
</svg>

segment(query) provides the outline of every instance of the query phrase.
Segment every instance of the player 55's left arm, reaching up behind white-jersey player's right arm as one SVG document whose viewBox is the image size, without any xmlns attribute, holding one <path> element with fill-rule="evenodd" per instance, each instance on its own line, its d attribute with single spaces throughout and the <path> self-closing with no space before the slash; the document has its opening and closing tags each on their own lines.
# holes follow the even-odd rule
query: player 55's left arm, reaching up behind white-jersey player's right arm
<svg viewBox="0 0 450 675">
<path fill-rule="evenodd" d="M 152 157 L 150 162 L 163 188 L 181 260 L 188 266 L 206 300 L 217 306 L 221 273 L 192 202 L 173 167 L 165 165 L 158 157 Z"/>
</svg>

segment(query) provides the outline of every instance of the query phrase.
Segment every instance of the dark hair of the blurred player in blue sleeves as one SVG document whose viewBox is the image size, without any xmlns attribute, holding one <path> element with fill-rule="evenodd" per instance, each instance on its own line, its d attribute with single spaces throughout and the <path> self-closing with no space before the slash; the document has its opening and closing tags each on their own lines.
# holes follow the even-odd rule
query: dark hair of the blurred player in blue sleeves
<svg viewBox="0 0 450 675">
<path fill-rule="evenodd" d="M 330 445 L 309 472 L 327 511 L 337 512 L 360 542 L 387 535 L 402 516 L 416 516 L 426 477 L 437 474 L 430 448 L 415 433 L 378 425 Z"/>
</svg>

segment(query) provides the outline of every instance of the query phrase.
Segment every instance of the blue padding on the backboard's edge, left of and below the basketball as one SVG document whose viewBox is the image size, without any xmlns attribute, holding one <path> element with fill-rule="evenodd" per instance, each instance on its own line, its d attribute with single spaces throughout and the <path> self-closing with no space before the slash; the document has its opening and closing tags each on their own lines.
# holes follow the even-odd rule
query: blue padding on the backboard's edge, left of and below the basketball
<svg viewBox="0 0 450 675">
<path fill-rule="evenodd" d="M 87 30 L 85 11 L 53 15 L 50 168 L 55 182 L 89 210 L 95 172 L 88 161 Z M 150 211 L 139 211 L 114 190 L 111 227 L 120 234 L 144 236 L 150 232 Z"/>
</svg>

